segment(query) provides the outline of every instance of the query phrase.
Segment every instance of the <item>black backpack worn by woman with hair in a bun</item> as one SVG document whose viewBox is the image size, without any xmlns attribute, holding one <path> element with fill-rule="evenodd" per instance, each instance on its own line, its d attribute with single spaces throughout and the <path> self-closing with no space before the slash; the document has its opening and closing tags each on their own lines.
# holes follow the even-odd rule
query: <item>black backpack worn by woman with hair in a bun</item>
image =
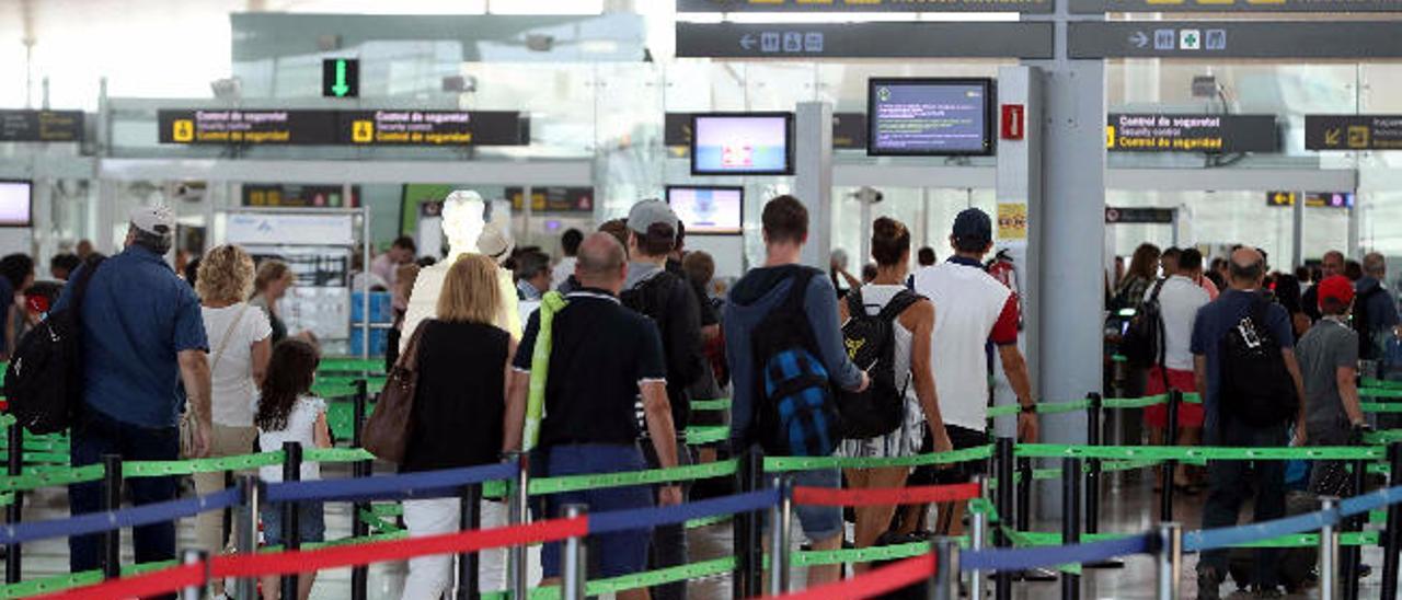
<svg viewBox="0 0 1402 600">
<path fill-rule="evenodd" d="M 861 289 L 847 293 L 848 320 L 843 324 L 847 357 L 865 370 L 871 386 L 865 391 L 837 391 L 843 415 L 843 436 L 864 440 L 885 436 L 906 421 L 906 388 L 910 373 L 896 373 L 896 317 L 920 301 L 910 290 L 900 290 L 875 315 L 866 314 Z M 897 381 L 900 379 L 900 381 Z"/>
</svg>

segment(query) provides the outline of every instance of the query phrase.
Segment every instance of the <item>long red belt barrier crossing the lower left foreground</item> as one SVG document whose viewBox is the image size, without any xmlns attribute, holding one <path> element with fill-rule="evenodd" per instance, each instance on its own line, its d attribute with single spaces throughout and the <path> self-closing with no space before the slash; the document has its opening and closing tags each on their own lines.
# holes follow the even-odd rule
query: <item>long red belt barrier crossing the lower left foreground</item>
<svg viewBox="0 0 1402 600">
<path fill-rule="evenodd" d="M 508 545 L 558 541 L 583 537 L 589 533 L 589 517 L 555 519 L 515 527 L 460 531 L 408 540 L 376 541 L 370 544 L 336 545 L 321 550 L 287 550 L 269 554 L 240 554 L 216 557 L 210 561 L 210 578 L 254 578 L 262 575 L 306 573 L 339 566 L 398 561 L 430 554 L 463 554 Z M 175 566 L 153 573 L 115 579 L 87 587 L 77 587 L 53 596 L 53 600 L 123 599 L 175 592 L 205 582 L 205 565 Z"/>
</svg>

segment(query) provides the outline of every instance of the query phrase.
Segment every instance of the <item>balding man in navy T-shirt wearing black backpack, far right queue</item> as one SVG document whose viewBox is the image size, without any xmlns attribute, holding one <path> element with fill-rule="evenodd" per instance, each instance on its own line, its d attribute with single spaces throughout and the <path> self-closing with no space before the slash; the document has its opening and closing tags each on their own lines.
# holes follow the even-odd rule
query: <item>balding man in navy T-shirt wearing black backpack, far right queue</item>
<svg viewBox="0 0 1402 600">
<path fill-rule="evenodd" d="M 1308 401 L 1295 362 L 1294 332 L 1290 315 L 1280 304 L 1269 301 L 1262 292 L 1266 278 L 1266 259 L 1252 248 L 1238 248 L 1231 254 L 1230 289 L 1217 301 L 1197 311 L 1193 322 L 1193 377 L 1203 397 L 1206 416 L 1204 442 L 1210 446 L 1234 447 L 1283 447 L 1288 440 L 1291 418 L 1279 423 L 1253 425 L 1242 415 L 1242 398 L 1227 394 L 1224 383 L 1231 366 L 1225 349 L 1228 335 L 1255 339 L 1258 345 L 1273 343 L 1279 348 L 1284 371 L 1291 380 L 1298 411 L 1295 422 L 1295 446 L 1305 440 L 1305 415 Z M 1241 334 L 1248 331 L 1249 336 Z M 1241 374 L 1234 374 L 1232 380 Z M 1280 381 L 1253 381 L 1252 386 L 1274 386 Z M 1224 395 L 1225 394 L 1225 395 Z M 1288 404 L 1291 398 L 1279 398 Z M 1258 416 L 1259 418 L 1259 416 Z M 1258 418 L 1253 418 L 1258 419 Z M 1286 514 L 1284 464 L 1281 461 L 1214 460 L 1207 463 L 1209 492 L 1203 507 L 1203 529 L 1232 527 L 1237 524 L 1242 503 L 1255 482 L 1256 502 L 1253 520 L 1256 523 L 1280 519 Z M 1276 550 L 1259 548 L 1255 554 L 1255 586 L 1262 593 L 1277 593 Z M 1217 600 L 1218 586 L 1227 573 L 1227 550 L 1203 552 L 1197 562 L 1197 597 Z"/>
</svg>

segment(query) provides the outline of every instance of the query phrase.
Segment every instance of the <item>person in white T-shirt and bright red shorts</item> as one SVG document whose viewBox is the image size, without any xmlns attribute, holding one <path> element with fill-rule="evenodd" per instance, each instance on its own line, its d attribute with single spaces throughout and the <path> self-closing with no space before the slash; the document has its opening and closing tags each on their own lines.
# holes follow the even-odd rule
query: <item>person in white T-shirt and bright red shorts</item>
<svg viewBox="0 0 1402 600">
<path fill-rule="evenodd" d="M 1159 314 L 1164 318 L 1164 357 L 1148 371 L 1148 384 L 1144 391 L 1148 395 L 1166 394 L 1168 390 L 1182 393 L 1196 393 L 1193 381 L 1193 324 L 1197 321 L 1197 310 L 1209 301 L 1209 293 L 1197 285 L 1203 275 L 1203 254 L 1197 248 L 1186 248 L 1178 254 L 1175 272 L 1165 271 L 1168 279 L 1161 285 L 1151 286 L 1144 294 L 1148 303 L 1158 290 Z M 1161 287 L 1159 287 L 1161 286 Z M 1155 404 L 1144 408 L 1144 426 L 1148 428 L 1150 444 L 1164 443 L 1164 430 L 1168 428 L 1168 405 Z M 1203 405 L 1183 402 L 1178 405 L 1178 439 L 1179 446 L 1196 446 L 1203 433 Z M 1189 481 L 1182 464 L 1173 474 L 1173 486 L 1187 491 Z"/>
</svg>

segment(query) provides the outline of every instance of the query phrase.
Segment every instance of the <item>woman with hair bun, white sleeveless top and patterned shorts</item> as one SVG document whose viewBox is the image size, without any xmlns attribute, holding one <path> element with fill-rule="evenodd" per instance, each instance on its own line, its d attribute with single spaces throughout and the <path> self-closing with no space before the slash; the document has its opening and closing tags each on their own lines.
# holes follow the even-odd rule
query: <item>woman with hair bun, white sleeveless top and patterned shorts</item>
<svg viewBox="0 0 1402 600">
<path fill-rule="evenodd" d="M 876 259 L 876 279 L 861 287 L 861 303 L 866 314 L 876 315 L 906 287 L 910 268 L 910 230 L 894 219 L 880 217 L 872 224 L 872 258 Z M 855 292 L 855 290 L 854 290 Z M 841 320 L 848 320 L 848 303 L 838 303 Z M 906 457 L 920 453 L 920 444 L 930 428 L 935 451 L 949 451 L 945 422 L 939 416 L 935 397 L 935 376 L 930 367 L 930 335 L 935 329 L 935 306 L 920 299 L 907 306 L 893 321 L 893 373 L 896 388 L 904 390 L 906 415 L 896 430 L 865 440 L 844 440 L 838 453 L 848 457 Z M 866 364 L 861 364 L 869 369 Z M 848 468 L 847 484 L 861 488 L 900 488 L 910 475 L 908 467 Z M 858 548 L 866 548 L 890 527 L 894 506 L 862 506 L 857 509 Z M 865 572 L 866 564 L 854 564 L 854 572 Z"/>
</svg>

